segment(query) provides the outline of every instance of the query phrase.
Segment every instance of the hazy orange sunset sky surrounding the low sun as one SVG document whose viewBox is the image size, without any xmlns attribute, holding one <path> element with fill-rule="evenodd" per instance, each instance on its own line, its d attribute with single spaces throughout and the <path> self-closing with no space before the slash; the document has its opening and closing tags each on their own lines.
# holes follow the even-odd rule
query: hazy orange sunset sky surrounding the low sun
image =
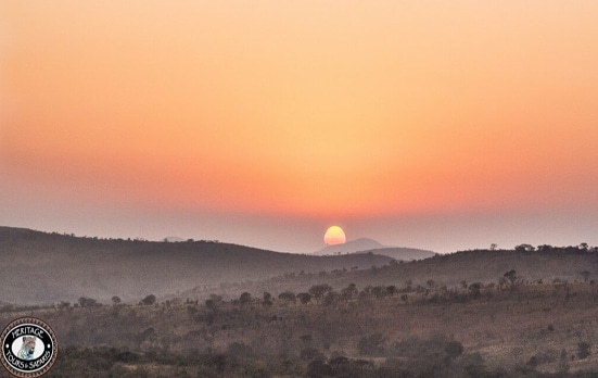
<svg viewBox="0 0 598 378">
<path fill-rule="evenodd" d="M 0 0 L 0 225 L 598 244 L 596 1 Z"/>
</svg>

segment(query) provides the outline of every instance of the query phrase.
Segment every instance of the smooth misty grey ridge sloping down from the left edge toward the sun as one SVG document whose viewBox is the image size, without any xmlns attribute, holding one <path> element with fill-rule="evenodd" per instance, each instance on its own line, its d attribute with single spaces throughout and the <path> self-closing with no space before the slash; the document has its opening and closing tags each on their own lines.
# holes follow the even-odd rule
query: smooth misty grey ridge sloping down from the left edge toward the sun
<svg viewBox="0 0 598 378">
<path fill-rule="evenodd" d="M 374 254 L 310 256 L 212 242 L 92 239 L 0 227 L 0 302 L 139 301 L 285 273 L 382 266 Z"/>
</svg>

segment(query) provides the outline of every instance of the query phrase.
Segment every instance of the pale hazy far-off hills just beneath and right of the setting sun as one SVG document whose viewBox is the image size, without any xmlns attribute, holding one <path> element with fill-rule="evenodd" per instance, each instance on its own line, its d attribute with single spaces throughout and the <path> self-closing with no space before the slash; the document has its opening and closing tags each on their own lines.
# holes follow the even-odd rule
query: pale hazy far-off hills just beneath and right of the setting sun
<svg viewBox="0 0 598 378">
<path fill-rule="evenodd" d="M 334 255 L 334 254 L 347 254 L 347 253 L 367 253 L 372 252 L 376 254 L 382 254 L 395 260 L 410 261 L 410 260 L 422 260 L 432 257 L 435 255 L 432 251 L 419 250 L 415 248 L 405 248 L 405 247 L 389 247 L 383 245 L 380 242 L 368 239 L 360 238 L 352 241 L 347 241 L 344 244 L 328 245 L 319 251 L 316 255 Z"/>
</svg>

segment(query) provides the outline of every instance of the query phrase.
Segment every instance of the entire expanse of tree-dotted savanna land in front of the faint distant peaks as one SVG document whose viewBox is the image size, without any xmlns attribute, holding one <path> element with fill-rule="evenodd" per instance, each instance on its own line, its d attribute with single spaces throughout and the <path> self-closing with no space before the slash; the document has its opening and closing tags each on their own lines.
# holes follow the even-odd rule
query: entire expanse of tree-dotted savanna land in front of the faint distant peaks
<svg viewBox="0 0 598 378">
<path fill-rule="evenodd" d="M 53 327 L 50 377 L 598 377 L 585 243 L 403 262 L 0 234 L 0 326 Z"/>
</svg>

